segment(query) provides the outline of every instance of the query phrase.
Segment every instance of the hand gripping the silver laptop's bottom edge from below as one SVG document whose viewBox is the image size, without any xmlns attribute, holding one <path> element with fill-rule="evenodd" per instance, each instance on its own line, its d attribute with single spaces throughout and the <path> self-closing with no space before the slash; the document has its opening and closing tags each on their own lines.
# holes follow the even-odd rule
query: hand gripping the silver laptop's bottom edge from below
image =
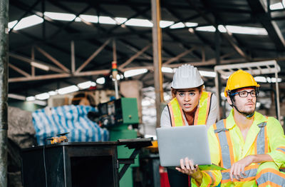
<svg viewBox="0 0 285 187">
<path fill-rule="evenodd" d="M 199 170 L 198 165 L 194 166 L 193 161 L 188 158 L 180 159 L 180 168 L 177 167 L 176 170 L 191 176 L 198 183 L 202 183 L 202 172 Z"/>
</svg>

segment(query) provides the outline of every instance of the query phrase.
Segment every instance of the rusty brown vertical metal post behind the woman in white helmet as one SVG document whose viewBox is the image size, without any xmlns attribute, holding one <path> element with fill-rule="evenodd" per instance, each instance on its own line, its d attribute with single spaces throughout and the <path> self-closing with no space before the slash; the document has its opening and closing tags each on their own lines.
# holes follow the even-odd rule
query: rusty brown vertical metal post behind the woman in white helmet
<svg viewBox="0 0 285 187">
<path fill-rule="evenodd" d="M 153 53 L 153 66 L 155 68 L 155 106 L 156 106 L 156 126 L 160 126 L 161 110 L 160 105 L 163 100 L 163 88 L 162 88 L 162 36 L 160 29 L 160 0 L 152 0 L 152 53 Z"/>
</svg>

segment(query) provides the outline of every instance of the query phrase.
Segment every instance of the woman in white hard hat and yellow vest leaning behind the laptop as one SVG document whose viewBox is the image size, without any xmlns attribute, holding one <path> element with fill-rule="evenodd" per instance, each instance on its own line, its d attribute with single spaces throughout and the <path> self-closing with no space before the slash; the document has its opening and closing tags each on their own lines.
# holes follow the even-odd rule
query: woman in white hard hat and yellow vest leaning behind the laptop
<svg viewBox="0 0 285 187">
<path fill-rule="evenodd" d="M 172 100 L 167 103 L 160 126 L 212 126 L 217 120 L 217 97 L 204 91 L 204 81 L 199 71 L 190 64 L 180 66 L 171 85 Z M 188 186 L 188 176 L 168 169 L 170 186 Z"/>
</svg>

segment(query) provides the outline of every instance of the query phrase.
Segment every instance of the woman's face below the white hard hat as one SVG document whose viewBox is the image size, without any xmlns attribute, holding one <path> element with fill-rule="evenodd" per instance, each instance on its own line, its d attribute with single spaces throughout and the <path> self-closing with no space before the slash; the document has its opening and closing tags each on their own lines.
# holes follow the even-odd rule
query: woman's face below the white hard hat
<svg viewBox="0 0 285 187">
<path fill-rule="evenodd" d="M 201 94 L 197 88 L 178 89 L 175 96 L 183 111 L 192 112 L 199 103 Z"/>
</svg>

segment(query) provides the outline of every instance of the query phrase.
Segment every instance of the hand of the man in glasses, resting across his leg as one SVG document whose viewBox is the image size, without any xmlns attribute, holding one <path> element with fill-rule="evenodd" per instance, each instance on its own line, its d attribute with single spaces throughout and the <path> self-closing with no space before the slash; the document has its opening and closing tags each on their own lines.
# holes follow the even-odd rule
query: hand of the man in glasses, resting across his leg
<svg viewBox="0 0 285 187">
<path fill-rule="evenodd" d="M 242 158 L 242 160 L 233 163 L 231 170 L 229 171 L 229 178 L 231 178 L 231 180 L 233 180 L 232 176 L 234 176 L 234 178 L 236 178 L 237 180 L 244 178 L 243 176 L 246 176 L 246 174 L 244 173 L 244 168 L 249 166 L 253 161 L 254 161 L 254 156 L 249 155 Z"/>
</svg>

